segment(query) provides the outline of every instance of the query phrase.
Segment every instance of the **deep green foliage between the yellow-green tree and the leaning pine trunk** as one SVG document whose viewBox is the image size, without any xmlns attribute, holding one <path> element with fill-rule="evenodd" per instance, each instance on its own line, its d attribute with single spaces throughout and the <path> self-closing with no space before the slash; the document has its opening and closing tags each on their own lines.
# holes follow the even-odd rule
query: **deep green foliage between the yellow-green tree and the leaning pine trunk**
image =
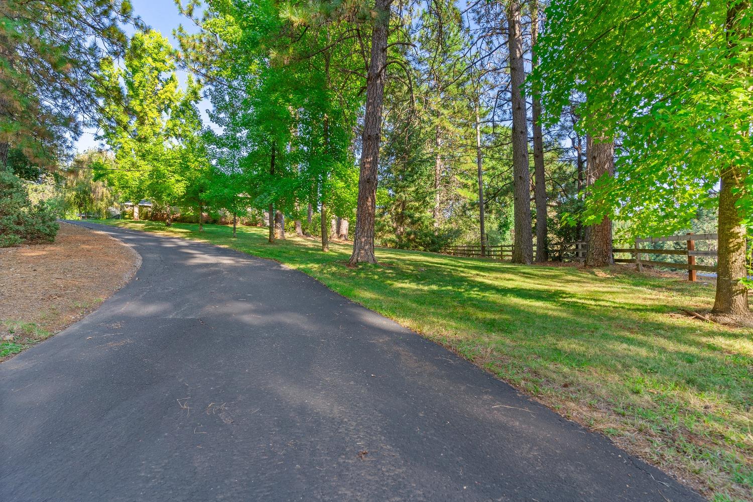
<svg viewBox="0 0 753 502">
<path fill-rule="evenodd" d="M 357 169 L 352 124 L 361 104 L 352 75 L 355 41 L 331 45 L 339 29 L 301 29 L 273 2 L 213 2 L 178 30 L 181 61 L 212 83 L 209 115 L 218 130 L 204 138 L 212 158 L 209 204 L 231 214 L 274 205 L 300 217 L 325 203 L 344 218 L 355 214 Z M 194 16 L 194 3 L 184 7 Z"/>
</svg>

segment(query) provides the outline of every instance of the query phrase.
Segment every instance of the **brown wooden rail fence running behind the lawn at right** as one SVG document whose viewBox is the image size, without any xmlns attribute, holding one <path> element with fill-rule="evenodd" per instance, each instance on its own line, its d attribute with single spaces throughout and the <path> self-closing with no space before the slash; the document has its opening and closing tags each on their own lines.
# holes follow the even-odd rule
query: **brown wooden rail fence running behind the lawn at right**
<svg viewBox="0 0 753 502">
<path fill-rule="evenodd" d="M 636 239 L 635 247 L 633 248 L 613 248 L 613 254 L 633 254 L 631 258 L 614 258 L 615 263 L 636 263 L 639 270 L 643 269 L 644 265 L 651 266 L 663 266 L 669 269 L 684 269 L 687 270 L 687 278 L 690 281 L 696 280 L 696 272 L 716 272 L 716 265 L 700 265 L 696 263 L 697 257 L 715 258 L 717 257 L 717 251 L 696 251 L 697 241 L 715 241 L 718 239 L 715 233 L 689 233 L 684 236 L 666 236 L 666 237 L 648 237 L 646 239 Z M 686 242 L 686 248 L 684 249 L 654 249 L 644 248 L 642 245 L 645 243 L 653 242 Z M 536 245 L 533 245 L 534 251 Z M 511 260 L 513 256 L 513 245 L 487 245 L 485 246 L 485 257 L 495 258 L 497 260 Z M 559 242 L 550 245 L 549 256 L 550 259 L 559 261 L 579 261 L 586 260 L 587 245 L 584 241 L 576 242 Z M 441 253 L 450 254 L 458 257 L 481 257 L 480 245 L 462 245 L 462 246 L 450 246 L 444 248 Z M 687 257 L 684 263 L 682 262 L 667 262 L 660 260 L 645 260 L 644 256 L 648 255 L 675 255 Z"/>
</svg>

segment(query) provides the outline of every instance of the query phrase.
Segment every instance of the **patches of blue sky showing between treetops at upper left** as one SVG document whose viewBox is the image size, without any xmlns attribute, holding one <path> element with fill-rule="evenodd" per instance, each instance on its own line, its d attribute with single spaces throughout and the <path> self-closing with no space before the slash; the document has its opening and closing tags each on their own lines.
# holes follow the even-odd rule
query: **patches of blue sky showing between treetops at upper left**
<svg viewBox="0 0 753 502">
<path fill-rule="evenodd" d="M 178 14 L 178 8 L 175 7 L 175 2 L 172 0 L 131 0 L 131 3 L 133 11 L 141 16 L 148 26 L 165 35 L 174 47 L 178 46 L 178 41 L 172 36 L 172 30 L 177 28 L 179 24 L 182 23 L 189 32 L 195 31 L 191 21 Z M 128 31 L 132 33 L 133 29 Z M 185 71 L 178 70 L 178 78 L 181 84 L 185 81 L 186 75 Z M 208 106 L 208 102 L 201 102 L 201 111 L 203 112 Z M 207 120 L 206 114 L 204 114 L 204 120 L 205 122 Z M 94 139 L 95 133 L 95 129 L 87 129 L 76 142 L 76 150 L 84 151 L 87 148 L 98 147 L 99 142 Z"/>
</svg>

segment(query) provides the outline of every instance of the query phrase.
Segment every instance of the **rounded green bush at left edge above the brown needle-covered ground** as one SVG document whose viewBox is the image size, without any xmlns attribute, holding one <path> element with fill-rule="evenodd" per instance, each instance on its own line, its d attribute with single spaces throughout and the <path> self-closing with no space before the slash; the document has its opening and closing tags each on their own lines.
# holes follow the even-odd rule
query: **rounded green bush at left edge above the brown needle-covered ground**
<svg viewBox="0 0 753 502">
<path fill-rule="evenodd" d="M 22 242 L 52 242 L 57 214 L 47 202 L 32 204 L 23 181 L 0 172 L 0 248 Z"/>
</svg>

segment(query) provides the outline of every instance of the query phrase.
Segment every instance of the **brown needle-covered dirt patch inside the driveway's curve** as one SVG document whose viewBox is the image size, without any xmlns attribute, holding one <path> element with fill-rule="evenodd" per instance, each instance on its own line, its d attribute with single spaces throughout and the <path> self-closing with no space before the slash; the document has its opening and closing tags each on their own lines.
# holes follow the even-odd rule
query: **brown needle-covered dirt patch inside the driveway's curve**
<svg viewBox="0 0 753 502">
<path fill-rule="evenodd" d="M 0 249 L 0 361 L 92 312 L 140 264 L 117 239 L 65 223 L 53 243 Z"/>
</svg>

